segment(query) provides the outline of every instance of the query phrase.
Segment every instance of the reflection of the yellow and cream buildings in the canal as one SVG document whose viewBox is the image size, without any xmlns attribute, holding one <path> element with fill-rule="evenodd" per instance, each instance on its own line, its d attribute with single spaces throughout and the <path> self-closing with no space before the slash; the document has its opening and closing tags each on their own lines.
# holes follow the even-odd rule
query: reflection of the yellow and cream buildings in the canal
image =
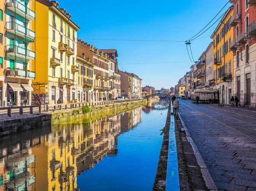
<svg viewBox="0 0 256 191">
<path fill-rule="evenodd" d="M 118 135 L 141 121 L 142 108 L 135 108 L 89 123 L 52 125 L 51 132 L 5 137 L 0 141 L 0 191 L 79 191 L 77 176 L 105 156 L 115 157 Z"/>
</svg>

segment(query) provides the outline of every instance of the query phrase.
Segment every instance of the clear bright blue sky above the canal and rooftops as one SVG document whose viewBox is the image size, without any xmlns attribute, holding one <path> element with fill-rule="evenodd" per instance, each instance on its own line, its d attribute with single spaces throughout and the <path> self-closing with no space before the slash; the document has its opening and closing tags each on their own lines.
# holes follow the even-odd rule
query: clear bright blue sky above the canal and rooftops
<svg viewBox="0 0 256 191">
<path fill-rule="evenodd" d="M 72 15 L 71 19 L 80 26 L 80 39 L 93 44 L 96 48 L 116 48 L 120 70 L 137 74 L 143 79 L 143 86 L 150 85 L 159 89 L 162 86 L 175 86 L 180 77 L 190 70 L 192 63 L 185 42 L 91 39 L 185 41 L 201 31 L 227 0 L 161 0 L 160 3 L 155 0 L 58 2 L 59 7 L 67 9 Z M 229 3 L 221 14 L 230 5 Z M 217 25 L 218 22 L 202 34 L 201 37 L 205 38 L 192 41 L 194 60 L 201 56 L 212 41 L 206 36 L 211 35 Z"/>
</svg>

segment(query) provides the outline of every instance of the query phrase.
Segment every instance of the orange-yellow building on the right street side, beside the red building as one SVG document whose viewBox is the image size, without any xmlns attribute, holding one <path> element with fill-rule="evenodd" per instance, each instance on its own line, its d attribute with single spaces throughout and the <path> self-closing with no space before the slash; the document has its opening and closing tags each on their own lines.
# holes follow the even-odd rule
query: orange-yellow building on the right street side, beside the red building
<svg viewBox="0 0 256 191">
<path fill-rule="evenodd" d="M 233 51 L 229 49 L 233 40 L 233 29 L 230 27 L 232 15 L 233 6 L 226 11 L 211 37 L 214 55 L 213 78 L 217 86 L 215 89 L 219 89 L 220 103 L 224 104 L 230 104 L 233 91 Z"/>
</svg>

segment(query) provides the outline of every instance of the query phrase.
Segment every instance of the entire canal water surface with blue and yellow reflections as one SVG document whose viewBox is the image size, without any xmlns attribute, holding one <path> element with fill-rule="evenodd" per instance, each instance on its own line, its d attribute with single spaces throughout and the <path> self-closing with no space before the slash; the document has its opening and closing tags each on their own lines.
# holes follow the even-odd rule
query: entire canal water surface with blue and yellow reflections
<svg viewBox="0 0 256 191">
<path fill-rule="evenodd" d="M 150 191 L 168 103 L 0 138 L 0 191 Z"/>
</svg>

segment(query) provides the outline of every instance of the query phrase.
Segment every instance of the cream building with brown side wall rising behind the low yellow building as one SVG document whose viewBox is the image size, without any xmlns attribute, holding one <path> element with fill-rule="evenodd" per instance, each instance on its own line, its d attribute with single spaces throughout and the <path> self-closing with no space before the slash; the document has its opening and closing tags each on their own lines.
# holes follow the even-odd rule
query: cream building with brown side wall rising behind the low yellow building
<svg viewBox="0 0 256 191">
<path fill-rule="evenodd" d="M 94 102 L 103 101 L 104 98 L 109 98 L 109 57 L 103 51 L 95 48 L 93 45 L 87 44 L 78 39 L 77 43 L 77 55 L 89 57 L 93 64 L 96 66 L 93 68 L 93 94 L 91 92 L 90 99 Z"/>
</svg>

